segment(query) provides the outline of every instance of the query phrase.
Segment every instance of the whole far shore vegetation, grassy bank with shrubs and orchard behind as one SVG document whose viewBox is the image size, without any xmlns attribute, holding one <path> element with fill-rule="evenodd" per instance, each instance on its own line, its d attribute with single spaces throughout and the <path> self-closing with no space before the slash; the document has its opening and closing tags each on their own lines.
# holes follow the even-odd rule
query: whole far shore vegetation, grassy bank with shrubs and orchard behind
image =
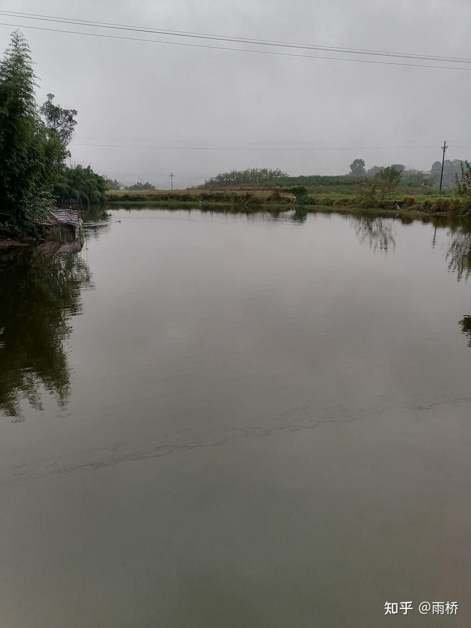
<svg viewBox="0 0 471 628">
<path fill-rule="evenodd" d="M 466 163 L 466 162 L 465 162 Z M 280 170 L 252 168 L 232 170 L 210 178 L 203 185 L 187 190 L 109 190 L 112 203 L 221 203 L 234 207 L 325 206 L 425 212 L 426 214 L 468 215 L 471 212 L 471 166 L 462 168 L 460 187 L 436 192 L 435 176 L 421 170 L 404 169 L 403 164 L 373 166 L 366 175 L 355 175 L 364 168 L 357 159 L 350 164 L 350 175 L 288 176 Z M 242 184 L 242 181 L 249 183 Z M 269 185 L 275 181 L 276 185 Z M 307 210 L 306 210 L 307 211 Z"/>
</svg>

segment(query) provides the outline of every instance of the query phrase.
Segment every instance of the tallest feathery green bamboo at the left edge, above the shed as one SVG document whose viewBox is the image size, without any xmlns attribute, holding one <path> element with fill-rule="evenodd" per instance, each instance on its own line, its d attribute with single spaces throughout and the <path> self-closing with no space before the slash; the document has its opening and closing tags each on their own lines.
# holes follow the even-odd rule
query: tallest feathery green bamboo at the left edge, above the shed
<svg viewBox="0 0 471 628">
<path fill-rule="evenodd" d="M 35 80 L 30 48 L 14 31 L 0 62 L 0 222 L 11 232 L 35 232 L 62 150 L 38 114 Z"/>
</svg>

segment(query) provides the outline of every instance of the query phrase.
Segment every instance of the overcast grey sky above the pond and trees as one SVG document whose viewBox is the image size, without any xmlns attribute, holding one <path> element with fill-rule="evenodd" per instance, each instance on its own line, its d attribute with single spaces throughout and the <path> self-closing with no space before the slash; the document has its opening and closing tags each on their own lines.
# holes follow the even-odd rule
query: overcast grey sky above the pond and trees
<svg viewBox="0 0 471 628">
<path fill-rule="evenodd" d="M 0 9 L 265 40 L 471 57 L 469 0 L 1 0 Z M 0 16 L 0 21 L 231 46 L 6 16 Z M 2 52 L 13 30 L 13 26 L 0 26 Z M 450 144 L 448 159 L 471 157 L 470 70 L 281 57 L 21 30 L 40 78 L 38 100 L 43 102 L 53 92 L 57 102 L 78 110 L 73 159 L 121 180 L 139 178 L 169 187 L 168 173 L 173 171 L 174 186 L 185 186 L 219 171 L 264 166 L 290 174 L 338 174 L 347 173 L 357 157 L 367 167 L 404 163 L 430 170 L 431 163 L 441 158 L 440 144 L 445 138 Z M 461 65 L 471 68 L 471 64 Z M 293 143 L 289 146 L 295 149 L 134 148 L 178 146 L 177 142 L 211 146 L 197 144 L 202 141 L 227 142 L 225 148 L 257 148 L 259 144 L 254 143 L 260 142 L 283 148 Z M 306 148 L 300 143 L 320 142 L 325 143 L 320 149 L 300 149 Z M 391 148 L 394 142 L 397 146 Z M 78 145 L 87 143 L 131 144 L 133 148 Z M 365 143 L 371 144 L 367 148 Z M 421 148 L 405 148 L 406 144 Z"/>
</svg>

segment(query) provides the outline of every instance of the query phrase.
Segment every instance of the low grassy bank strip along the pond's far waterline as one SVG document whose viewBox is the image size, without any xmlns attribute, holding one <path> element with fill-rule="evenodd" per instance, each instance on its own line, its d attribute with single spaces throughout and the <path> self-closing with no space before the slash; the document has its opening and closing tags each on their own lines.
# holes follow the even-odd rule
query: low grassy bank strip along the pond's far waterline
<svg viewBox="0 0 471 628">
<path fill-rule="evenodd" d="M 371 208 L 396 210 L 396 203 L 403 212 L 425 214 L 470 215 L 471 202 L 460 199 L 451 193 L 407 194 L 394 193 L 386 197 L 382 207 L 375 206 L 365 194 L 323 192 L 296 195 L 278 188 L 264 190 L 152 190 L 130 192 L 129 190 L 109 190 L 106 193 L 109 203 L 211 203 L 235 205 L 237 207 L 289 207 L 292 205 L 321 205 L 332 208 Z"/>
</svg>

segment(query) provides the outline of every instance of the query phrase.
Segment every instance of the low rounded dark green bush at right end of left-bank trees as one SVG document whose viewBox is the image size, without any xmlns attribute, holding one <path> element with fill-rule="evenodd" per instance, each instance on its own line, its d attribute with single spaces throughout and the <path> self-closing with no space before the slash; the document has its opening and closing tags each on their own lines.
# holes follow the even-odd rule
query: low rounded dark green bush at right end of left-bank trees
<svg viewBox="0 0 471 628">
<path fill-rule="evenodd" d="M 106 202 L 106 179 L 97 175 L 91 166 L 75 164 L 63 168 L 54 188 L 55 195 L 62 203 L 71 199 L 87 205 Z"/>
</svg>

